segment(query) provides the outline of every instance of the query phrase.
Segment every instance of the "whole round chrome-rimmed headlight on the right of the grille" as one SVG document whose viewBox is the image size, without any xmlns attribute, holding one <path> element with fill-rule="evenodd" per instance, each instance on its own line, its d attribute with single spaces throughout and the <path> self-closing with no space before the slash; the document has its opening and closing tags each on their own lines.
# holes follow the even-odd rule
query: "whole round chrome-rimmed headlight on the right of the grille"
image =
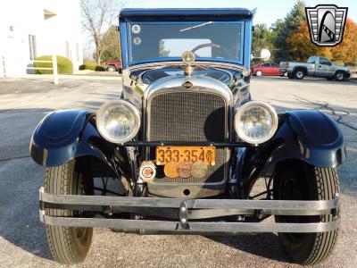
<svg viewBox="0 0 357 268">
<path fill-rule="evenodd" d="M 237 110 L 234 119 L 239 138 L 252 144 L 269 140 L 278 129 L 278 115 L 274 108 L 260 101 L 250 101 Z"/>
</svg>

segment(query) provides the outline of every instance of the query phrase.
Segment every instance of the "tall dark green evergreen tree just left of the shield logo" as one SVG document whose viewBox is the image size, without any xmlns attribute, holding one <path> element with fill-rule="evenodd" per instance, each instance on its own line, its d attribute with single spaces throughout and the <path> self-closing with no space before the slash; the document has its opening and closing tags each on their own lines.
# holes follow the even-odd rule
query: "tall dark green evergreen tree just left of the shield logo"
<svg viewBox="0 0 357 268">
<path fill-rule="evenodd" d="M 305 3 L 302 0 L 298 0 L 290 13 L 286 15 L 284 21 L 279 20 L 273 25 L 272 29 L 276 37 L 273 44 L 277 49 L 274 52 L 274 56 L 278 61 L 294 59 L 295 54 L 290 52 L 286 38 L 288 38 L 295 29 L 299 29 L 303 21 L 306 21 Z"/>
</svg>

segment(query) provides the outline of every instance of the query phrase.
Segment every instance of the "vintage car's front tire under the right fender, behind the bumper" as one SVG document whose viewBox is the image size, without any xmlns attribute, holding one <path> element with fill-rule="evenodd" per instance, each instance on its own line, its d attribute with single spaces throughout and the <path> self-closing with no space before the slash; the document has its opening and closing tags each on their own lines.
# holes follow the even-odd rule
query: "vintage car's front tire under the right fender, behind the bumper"
<svg viewBox="0 0 357 268">
<path fill-rule="evenodd" d="M 328 200 L 338 193 L 336 169 L 319 168 L 307 163 L 279 165 L 274 177 L 274 199 Z M 332 215 L 276 216 L 276 222 L 330 222 Z M 316 233 L 278 233 L 286 254 L 296 264 L 312 265 L 324 261 L 336 243 L 337 230 Z"/>
</svg>

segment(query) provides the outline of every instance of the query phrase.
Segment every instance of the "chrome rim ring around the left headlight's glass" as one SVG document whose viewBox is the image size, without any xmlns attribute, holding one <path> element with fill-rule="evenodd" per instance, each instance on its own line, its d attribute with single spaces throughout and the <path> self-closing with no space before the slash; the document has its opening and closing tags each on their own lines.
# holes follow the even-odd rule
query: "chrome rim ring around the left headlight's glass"
<svg viewBox="0 0 357 268">
<path fill-rule="evenodd" d="M 133 114 L 134 120 L 135 120 L 135 128 L 134 128 L 134 130 L 132 130 L 132 132 L 126 138 L 112 138 L 112 136 L 107 135 L 106 131 L 104 130 L 103 115 L 112 106 L 121 106 L 121 105 L 126 106 L 129 109 L 129 111 Z M 140 130 L 140 125 L 141 125 L 141 115 L 140 115 L 140 112 L 137 109 L 137 107 L 135 105 L 132 105 L 128 101 L 123 100 L 123 99 L 113 100 L 113 101 L 104 103 L 104 105 L 102 105 L 98 109 L 98 111 L 96 112 L 95 123 L 96 123 L 96 129 L 99 131 L 99 134 L 105 140 L 110 141 L 112 143 L 116 143 L 116 144 L 122 144 L 122 143 L 125 143 L 125 142 L 131 140 L 135 136 L 137 136 L 137 132 Z"/>
</svg>

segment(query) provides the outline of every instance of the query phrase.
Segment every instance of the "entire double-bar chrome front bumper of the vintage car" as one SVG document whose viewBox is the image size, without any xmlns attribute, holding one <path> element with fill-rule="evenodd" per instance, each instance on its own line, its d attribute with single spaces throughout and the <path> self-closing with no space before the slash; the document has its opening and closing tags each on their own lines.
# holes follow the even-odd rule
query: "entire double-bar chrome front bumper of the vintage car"
<svg viewBox="0 0 357 268">
<path fill-rule="evenodd" d="M 140 233 L 218 233 L 242 232 L 323 232 L 338 227 L 339 197 L 320 201 L 237 200 L 237 199 L 179 199 L 155 197 L 55 196 L 39 191 L 40 220 L 49 225 L 71 227 L 102 227 Z M 118 218 L 84 218 L 51 216 L 46 208 L 104 212 L 133 213 L 160 216 L 170 220 L 128 220 Z M 332 214 L 330 222 L 266 223 L 210 222 L 229 215 L 323 215 Z M 198 221 L 197 221 L 198 220 Z"/>
</svg>

